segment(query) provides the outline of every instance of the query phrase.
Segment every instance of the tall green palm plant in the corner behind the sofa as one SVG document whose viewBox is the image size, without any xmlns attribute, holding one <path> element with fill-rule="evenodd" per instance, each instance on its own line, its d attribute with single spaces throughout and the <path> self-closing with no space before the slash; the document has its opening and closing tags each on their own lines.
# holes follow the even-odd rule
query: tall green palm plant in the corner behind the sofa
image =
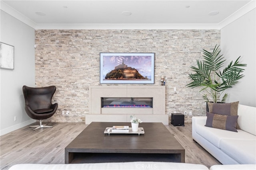
<svg viewBox="0 0 256 170">
<path fill-rule="evenodd" d="M 205 102 L 209 102 L 207 96 L 210 95 L 214 103 L 225 102 L 228 98 L 228 94 L 224 94 L 222 100 L 219 100 L 220 96 L 224 90 L 232 88 L 235 84 L 238 83 L 243 74 L 241 74 L 244 69 L 241 68 L 246 66 L 246 64 L 240 64 L 239 59 L 233 63 L 233 61 L 220 71 L 220 68 L 224 65 L 226 59 L 223 55 L 220 55 L 220 45 L 215 45 L 212 52 L 208 52 L 203 49 L 203 61 L 197 60 L 197 66 L 190 66 L 192 68 L 189 78 L 192 82 L 186 85 L 186 87 L 195 88 L 202 87 L 201 91 L 206 91 L 206 94 L 203 95 Z"/>
</svg>

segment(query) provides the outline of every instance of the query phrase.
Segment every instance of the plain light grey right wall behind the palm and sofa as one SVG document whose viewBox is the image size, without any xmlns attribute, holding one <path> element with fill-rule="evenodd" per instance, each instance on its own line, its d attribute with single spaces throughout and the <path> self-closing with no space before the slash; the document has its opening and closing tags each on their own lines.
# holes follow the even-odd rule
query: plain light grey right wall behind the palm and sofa
<svg viewBox="0 0 256 170">
<path fill-rule="evenodd" d="M 227 102 L 240 101 L 240 104 L 256 107 L 256 9 L 230 23 L 220 30 L 221 49 L 227 62 L 239 56 L 247 64 L 244 77 L 234 88 L 227 90 Z"/>
</svg>

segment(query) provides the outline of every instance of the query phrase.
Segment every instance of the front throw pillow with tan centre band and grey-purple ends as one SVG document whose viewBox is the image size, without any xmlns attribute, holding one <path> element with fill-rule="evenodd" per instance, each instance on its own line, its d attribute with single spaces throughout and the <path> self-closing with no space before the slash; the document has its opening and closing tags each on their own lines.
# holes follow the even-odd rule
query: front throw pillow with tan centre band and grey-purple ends
<svg viewBox="0 0 256 170">
<path fill-rule="evenodd" d="M 236 121 L 238 118 L 237 115 L 236 116 L 219 115 L 219 114 L 209 113 L 208 111 L 206 111 L 206 115 L 207 115 L 207 119 L 206 119 L 205 126 L 237 132 L 236 130 Z"/>
</svg>

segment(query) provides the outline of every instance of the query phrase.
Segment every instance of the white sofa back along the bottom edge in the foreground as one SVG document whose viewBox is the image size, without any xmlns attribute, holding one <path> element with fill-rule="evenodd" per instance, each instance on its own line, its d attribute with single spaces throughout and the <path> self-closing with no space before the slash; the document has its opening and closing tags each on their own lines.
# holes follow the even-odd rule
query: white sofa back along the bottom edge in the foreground
<svg viewBox="0 0 256 170">
<path fill-rule="evenodd" d="M 255 164 L 213 165 L 210 170 L 255 170 Z M 16 164 L 9 170 L 208 170 L 204 165 L 174 162 L 112 162 L 89 164 Z"/>
</svg>

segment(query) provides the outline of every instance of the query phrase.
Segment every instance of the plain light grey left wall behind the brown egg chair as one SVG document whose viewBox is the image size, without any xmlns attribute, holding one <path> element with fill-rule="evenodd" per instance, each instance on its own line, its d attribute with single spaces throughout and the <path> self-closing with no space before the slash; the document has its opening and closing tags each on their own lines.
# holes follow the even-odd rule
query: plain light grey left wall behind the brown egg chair
<svg viewBox="0 0 256 170">
<path fill-rule="evenodd" d="M 0 12 L 0 41 L 14 46 L 14 70 L 0 69 L 0 134 L 4 135 L 34 122 L 24 110 L 22 86 L 35 86 L 35 30 L 2 10 Z"/>
</svg>

